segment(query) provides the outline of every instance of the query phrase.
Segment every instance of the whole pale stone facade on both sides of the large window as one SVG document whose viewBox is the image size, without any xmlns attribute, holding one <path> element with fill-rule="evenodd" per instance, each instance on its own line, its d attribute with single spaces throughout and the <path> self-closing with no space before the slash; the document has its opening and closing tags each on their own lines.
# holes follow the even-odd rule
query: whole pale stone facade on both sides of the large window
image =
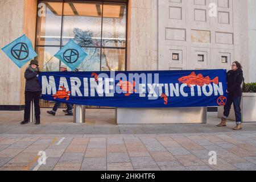
<svg viewBox="0 0 256 182">
<path fill-rule="evenodd" d="M 210 3 L 216 17 L 208 15 Z M 230 69 L 238 60 L 255 82 L 255 10 L 255 0 L 130 0 L 127 69 Z M 0 16 L 1 47 L 23 34 L 34 44 L 36 0 L 0 0 Z M 24 105 L 26 66 L 0 57 L 0 106 Z"/>
</svg>

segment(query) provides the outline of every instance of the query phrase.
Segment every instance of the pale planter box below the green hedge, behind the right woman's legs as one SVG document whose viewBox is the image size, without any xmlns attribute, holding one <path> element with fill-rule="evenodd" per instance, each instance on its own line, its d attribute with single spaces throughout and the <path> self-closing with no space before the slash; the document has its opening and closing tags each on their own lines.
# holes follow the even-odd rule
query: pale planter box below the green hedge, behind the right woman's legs
<svg viewBox="0 0 256 182">
<path fill-rule="evenodd" d="M 242 122 L 256 122 L 256 93 L 243 93 L 241 100 Z M 218 107 L 218 118 L 223 117 L 224 107 Z M 232 105 L 229 118 L 236 121 Z"/>
</svg>

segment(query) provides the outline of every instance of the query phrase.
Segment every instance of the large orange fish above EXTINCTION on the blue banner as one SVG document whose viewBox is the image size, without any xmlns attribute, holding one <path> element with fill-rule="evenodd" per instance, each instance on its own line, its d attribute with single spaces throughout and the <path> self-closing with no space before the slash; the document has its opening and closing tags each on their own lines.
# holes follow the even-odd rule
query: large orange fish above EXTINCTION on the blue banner
<svg viewBox="0 0 256 182">
<path fill-rule="evenodd" d="M 205 84 L 209 85 L 211 82 L 213 82 L 214 84 L 218 84 L 218 77 L 210 80 L 209 76 L 204 77 L 202 74 L 196 75 L 195 72 L 192 72 L 189 76 L 179 78 L 179 82 L 187 84 L 191 88 L 191 85 L 204 86 Z"/>
</svg>

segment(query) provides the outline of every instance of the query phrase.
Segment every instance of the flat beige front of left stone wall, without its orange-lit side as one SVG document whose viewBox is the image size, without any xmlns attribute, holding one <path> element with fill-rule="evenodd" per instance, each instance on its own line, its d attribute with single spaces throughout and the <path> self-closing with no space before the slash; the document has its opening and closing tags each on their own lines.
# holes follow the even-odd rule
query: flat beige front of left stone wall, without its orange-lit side
<svg viewBox="0 0 256 182">
<path fill-rule="evenodd" d="M 23 34 L 23 0 L 0 1 L 0 47 Z M 0 105 L 20 105 L 20 69 L 0 51 Z"/>
</svg>

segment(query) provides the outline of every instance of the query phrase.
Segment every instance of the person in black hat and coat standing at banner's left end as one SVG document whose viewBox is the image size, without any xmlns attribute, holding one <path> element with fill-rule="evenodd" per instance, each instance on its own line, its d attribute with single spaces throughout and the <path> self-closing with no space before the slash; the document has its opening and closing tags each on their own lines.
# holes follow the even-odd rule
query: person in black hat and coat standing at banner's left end
<svg viewBox="0 0 256 182">
<path fill-rule="evenodd" d="M 35 119 L 36 125 L 40 125 L 40 105 L 39 100 L 41 96 L 41 87 L 38 80 L 39 67 L 38 61 L 31 60 L 30 65 L 27 67 L 24 77 L 26 78 L 25 86 L 25 110 L 24 110 L 24 121 L 20 124 L 25 125 L 30 119 L 30 107 L 31 101 L 34 101 L 35 105 Z"/>
</svg>

